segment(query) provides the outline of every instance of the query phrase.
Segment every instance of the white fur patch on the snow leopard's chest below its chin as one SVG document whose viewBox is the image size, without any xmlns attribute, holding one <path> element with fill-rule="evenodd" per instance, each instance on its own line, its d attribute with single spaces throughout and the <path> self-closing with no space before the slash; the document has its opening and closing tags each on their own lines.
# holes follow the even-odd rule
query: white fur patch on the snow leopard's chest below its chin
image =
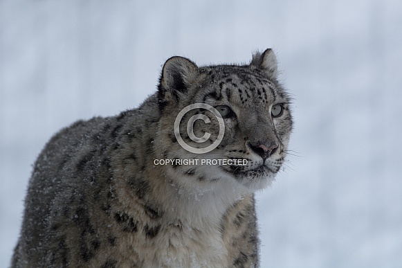
<svg viewBox="0 0 402 268">
<path fill-rule="evenodd" d="M 223 242 L 221 221 L 246 189 L 223 174 L 219 181 L 205 187 L 192 184 L 185 177 L 177 182 L 180 186 L 165 181 L 160 188 L 163 193 L 159 201 L 163 204 L 166 225 L 163 224 L 155 240 L 158 252 L 152 265 L 226 267 L 229 249 Z"/>
</svg>

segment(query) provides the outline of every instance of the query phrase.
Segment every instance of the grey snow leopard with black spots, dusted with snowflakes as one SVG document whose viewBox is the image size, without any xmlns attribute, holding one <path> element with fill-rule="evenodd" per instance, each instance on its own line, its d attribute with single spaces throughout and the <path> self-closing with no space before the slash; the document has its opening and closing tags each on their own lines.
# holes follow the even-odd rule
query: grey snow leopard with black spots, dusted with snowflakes
<svg viewBox="0 0 402 268">
<path fill-rule="evenodd" d="M 259 267 L 254 195 L 280 172 L 293 126 L 277 73 L 271 48 L 248 64 L 171 57 L 138 108 L 55 134 L 12 267 Z"/>
</svg>

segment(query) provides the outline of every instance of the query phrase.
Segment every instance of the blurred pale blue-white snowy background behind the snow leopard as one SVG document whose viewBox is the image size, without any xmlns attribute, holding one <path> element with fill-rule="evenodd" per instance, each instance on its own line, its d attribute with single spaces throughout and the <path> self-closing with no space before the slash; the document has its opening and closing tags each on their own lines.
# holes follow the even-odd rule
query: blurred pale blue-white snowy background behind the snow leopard
<svg viewBox="0 0 402 268">
<path fill-rule="evenodd" d="M 402 267 L 399 0 L 0 1 L 0 267 L 58 129 L 138 106 L 172 55 L 270 47 L 296 156 L 257 196 L 262 267 Z"/>
</svg>

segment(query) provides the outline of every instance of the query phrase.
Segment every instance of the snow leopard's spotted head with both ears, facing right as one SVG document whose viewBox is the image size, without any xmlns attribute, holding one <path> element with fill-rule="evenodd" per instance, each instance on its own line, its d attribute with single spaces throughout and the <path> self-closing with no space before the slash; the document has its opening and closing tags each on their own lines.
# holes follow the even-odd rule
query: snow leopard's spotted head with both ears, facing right
<svg viewBox="0 0 402 268">
<path fill-rule="evenodd" d="M 161 122 L 156 137 L 166 142 L 158 148 L 165 159 L 194 159 L 175 160 L 168 172 L 184 177 L 181 184 L 230 180 L 249 190 L 268 186 L 284 163 L 292 129 L 290 98 L 276 75 L 271 49 L 256 53 L 244 66 L 198 67 L 183 57 L 167 60 L 158 91 Z M 208 109 L 192 109 L 174 129 L 180 111 L 196 103 L 214 107 L 218 116 Z M 203 117 L 191 121 L 193 116 Z M 190 148 L 210 148 L 222 130 L 218 118 L 223 120 L 224 134 L 208 152 L 189 152 L 174 134 Z"/>
</svg>

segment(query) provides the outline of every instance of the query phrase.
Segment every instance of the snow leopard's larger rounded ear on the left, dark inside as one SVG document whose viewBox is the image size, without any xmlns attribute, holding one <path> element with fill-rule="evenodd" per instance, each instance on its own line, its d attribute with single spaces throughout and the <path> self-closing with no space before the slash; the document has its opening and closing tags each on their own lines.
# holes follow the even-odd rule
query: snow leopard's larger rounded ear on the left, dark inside
<svg viewBox="0 0 402 268">
<path fill-rule="evenodd" d="M 197 77 L 198 66 L 185 57 L 171 57 L 163 65 L 159 80 L 158 97 L 160 106 L 179 101 L 181 95 Z"/>
</svg>

